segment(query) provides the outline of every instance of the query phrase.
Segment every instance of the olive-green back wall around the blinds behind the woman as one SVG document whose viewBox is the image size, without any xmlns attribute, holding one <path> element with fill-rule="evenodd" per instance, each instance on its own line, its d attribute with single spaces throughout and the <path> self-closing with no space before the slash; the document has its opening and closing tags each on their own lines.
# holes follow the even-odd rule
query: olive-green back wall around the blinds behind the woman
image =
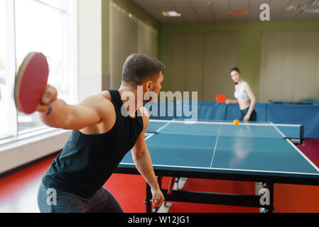
<svg viewBox="0 0 319 227">
<path fill-rule="evenodd" d="M 319 30 L 319 21 L 298 22 L 238 22 L 238 23 L 174 23 L 161 24 L 159 33 L 159 60 L 166 65 L 163 90 L 171 88 L 170 39 L 173 32 L 238 31 L 238 67 L 242 77 L 259 96 L 259 68 L 261 57 L 261 31 Z"/>
</svg>

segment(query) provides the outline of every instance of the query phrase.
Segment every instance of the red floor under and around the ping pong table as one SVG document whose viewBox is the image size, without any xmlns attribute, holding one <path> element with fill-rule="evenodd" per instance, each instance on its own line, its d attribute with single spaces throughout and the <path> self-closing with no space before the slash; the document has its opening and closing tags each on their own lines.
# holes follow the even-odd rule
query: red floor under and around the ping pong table
<svg viewBox="0 0 319 227">
<path fill-rule="evenodd" d="M 298 148 L 319 166 L 319 140 L 306 140 Z M 54 157 L 36 162 L 0 178 L 1 212 L 38 212 L 36 191 L 40 179 Z M 163 187 L 168 178 L 163 179 Z M 114 174 L 104 184 L 117 198 L 125 212 L 145 212 L 145 182 L 140 175 Z M 185 190 L 254 194 L 253 182 L 189 179 Z M 292 184 L 275 184 L 274 206 L 281 212 L 319 212 L 319 187 Z M 188 204 L 174 202 L 170 212 L 259 212 L 259 209 L 239 206 Z"/>
</svg>

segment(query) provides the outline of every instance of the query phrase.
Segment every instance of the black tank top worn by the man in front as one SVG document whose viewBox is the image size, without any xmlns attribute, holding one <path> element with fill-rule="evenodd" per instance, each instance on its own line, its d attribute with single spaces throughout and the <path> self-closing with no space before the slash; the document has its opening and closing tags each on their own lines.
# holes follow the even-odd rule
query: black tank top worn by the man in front
<svg viewBox="0 0 319 227">
<path fill-rule="evenodd" d="M 134 147 L 143 130 L 143 118 L 121 115 L 121 96 L 108 90 L 117 115 L 114 126 L 107 133 L 86 135 L 72 131 L 63 148 L 55 157 L 42 182 L 63 192 L 92 197 L 112 175 L 124 155 Z"/>
</svg>

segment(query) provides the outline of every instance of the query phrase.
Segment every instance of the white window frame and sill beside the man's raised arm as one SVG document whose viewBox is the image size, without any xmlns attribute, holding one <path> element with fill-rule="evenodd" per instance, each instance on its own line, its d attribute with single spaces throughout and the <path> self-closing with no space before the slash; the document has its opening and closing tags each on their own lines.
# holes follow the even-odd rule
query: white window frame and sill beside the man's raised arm
<svg viewBox="0 0 319 227">
<path fill-rule="evenodd" d="M 50 128 L 48 126 L 40 126 L 36 128 L 31 128 L 30 130 L 22 131 L 22 133 L 18 132 L 18 111 L 16 110 L 16 106 L 14 104 L 14 99 L 13 99 L 13 87 L 14 87 L 14 77 L 12 75 L 16 75 L 16 26 L 15 26 L 15 0 L 4 0 L 6 1 L 6 36 L 8 40 L 8 47 L 6 50 L 6 60 L 8 61 L 8 67 L 9 69 L 7 70 L 6 73 L 6 87 L 10 87 L 10 95 L 9 95 L 9 106 L 8 106 L 8 111 L 9 111 L 9 135 L 6 136 L 0 136 L 0 156 L 1 155 L 8 155 L 9 153 L 16 152 L 21 153 L 21 150 L 24 148 L 28 148 L 29 145 L 32 146 L 34 144 L 38 144 L 37 146 L 39 148 L 48 148 L 48 143 L 50 143 L 51 148 L 46 150 L 44 153 L 53 153 L 56 152 L 60 149 L 63 148 L 63 145 L 65 144 L 65 138 L 67 138 L 68 135 L 70 135 L 70 131 L 66 131 L 63 129 L 59 128 Z M 44 3 L 43 1 L 40 0 L 33 0 L 37 1 L 40 4 L 45 4 L 46 6 L 53 7 L 54 9 L 57 9 L 54 6 L 50 6 L 49 4 Z M 74 31 L 74 34 L 72 35 L 73 39 L 72 42 L 74 42 L 72 46 L 72 51 L 74 51 L 74 57 L 72 59 L 72 79 L 70 79 L 72 82 L 74 82 L 74 86 L 72 87 L 70 94 L 72 101 L 74 102 L 77 99 L 77 59 L 78 59 L 78 50 L 77 50 L 77 38 L 78 38 L 78 28 L 77 28 L 77 1 L 73 1 L 72 4 L 72 24 L 67 24 L 63 23 L 63 33 L 65 37 L 68 37 L 68 34 L 65 33 L 67 32 L 67 26 L 72 26 L 72 30 Z M 64 4 L 64 2 L 63 2 Z M 68 4 L 68 3 L 67 3 Z M 65 11 L 65 9 L 58 9 L 63 11 L 64 13 L 69 13 Z M 63 16 L 63 22 L 68 21 L 69 18 L 67 16 Z M 65 48 L 65 45 L 67 44 L 67 40 L 63 40 L 63 55 L 69 49 Z M 67 50 L 65 50 L 67 49 Z M 63 57 L 64 58 L 64 57 Z M 69 62 L 69 60 L 67 60 Z M 64 69 L 63 69 L 64 70 Z M 52 143 L 48 141 L 56 141 L 56 140 L 62 140 L 63 143 Z M 33 155 L 30 156 L 31 159 L 36 159 L 39 157 L 43 156 L 43 153 L 34 153 L 34 150 L 31 150 L 31 153 Z M 26 155 L 28 156 L 28 155 Z M 33 156 L 33 158 L 32 158 Z M 2 156 L 1 156 L 2 157 Z M 18 160 L 21 160 L 22 157 L 18 157 Z M 30 159 L 29 158 L 29 159 Z M 1 158 L 0 158 L 1 162 Z M 21 160 L 21 162 L 28 162 L 28 158 L 26 160 Z M 1 164 L 1 163 L 0 163 Z M 21 165 L 17 163 L 17 166 Z M 1 165 L 0 165 L 1 166 Z M 10 168 L 15 167 L 11 166 Z M 9 168 L 9 169 L 10 169 Z M 0 173 L 4 172 L 6 170 L 3 170 L 0 168 Z"/>
</svg>

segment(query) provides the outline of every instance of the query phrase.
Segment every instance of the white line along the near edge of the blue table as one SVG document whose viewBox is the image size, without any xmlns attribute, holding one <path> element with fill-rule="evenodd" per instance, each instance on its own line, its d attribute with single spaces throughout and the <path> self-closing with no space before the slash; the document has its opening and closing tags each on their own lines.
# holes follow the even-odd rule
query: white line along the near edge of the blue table
<svg viewBox="0 0 319 227">
<path fill-rule="evenodd" d="M 134 165 L 134 163 L 121 162 L 121 165 Z M 319 173 L 309 173 L 309 172 L 283 172 L 283 171 L 270 171 L 270 170 L 241 170 L 241 169 L 225 169 L 225 168 L 210 168 L 210 167 L 186 167 L 178 165 L 153 165 L 156 167 L 175 167 L 175 168 L 185 168 L 185 169 L 198 169 L 198 170 L 232 170 L 232 171 L 242 171 L 242 172 L 271 172 L 271 173 L 285 173 L 285 174 L 295 174 L 295 175 L 314 175 L 319 176 Z"/>
</svg>

